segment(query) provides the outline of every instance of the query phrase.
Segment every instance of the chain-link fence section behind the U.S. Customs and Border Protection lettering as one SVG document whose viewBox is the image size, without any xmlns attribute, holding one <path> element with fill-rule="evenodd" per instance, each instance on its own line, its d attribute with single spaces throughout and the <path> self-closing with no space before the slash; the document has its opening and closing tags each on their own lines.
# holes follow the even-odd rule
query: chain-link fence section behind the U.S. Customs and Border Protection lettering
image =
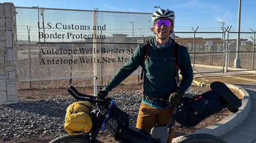
<svg viewBox="0 0 256 143">
<path fill-rule="evenodd" d="M 37 7 L 16 11 L 19 81 L 97 77 L 104 84 L 102 77 L 113 76 L 138 43 L 153 34 L 149 13 Z"/>
</svg>

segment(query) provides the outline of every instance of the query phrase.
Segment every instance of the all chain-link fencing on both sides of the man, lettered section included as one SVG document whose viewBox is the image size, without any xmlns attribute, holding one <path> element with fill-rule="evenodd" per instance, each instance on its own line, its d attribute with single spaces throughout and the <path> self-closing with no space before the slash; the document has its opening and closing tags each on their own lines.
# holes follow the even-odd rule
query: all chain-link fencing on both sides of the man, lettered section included
<svg viewBox="0 0 256 143">
<path fill-rule="evenodd" d="M 18 80 L 30 86 L 36 81 L 56 80 L 61 86 L 82 79 L 86 80 L 78 82 L 80 86 L 87 86 L 93 85 L 93 78 L 104 85 L 139 43 L 154 36 L 151 13 L 38 7 L 16 11 Z M 175 31 L 175 40 L 188 48 L 193 67 L 201 74 L 255 70 L 255 32 L 239 34 L 238 42 L 232 29 L 198 28 Z M 205 66 L 213 68 L 205 71 Z M 126 81 L 139 81 L 140 70 Z"/>
</svg>

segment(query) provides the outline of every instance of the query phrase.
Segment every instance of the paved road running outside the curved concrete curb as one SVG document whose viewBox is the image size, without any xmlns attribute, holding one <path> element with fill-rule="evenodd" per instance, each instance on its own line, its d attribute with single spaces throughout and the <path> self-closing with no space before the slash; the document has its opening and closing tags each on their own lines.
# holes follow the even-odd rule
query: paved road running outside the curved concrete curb
<svg viewBox="0 0 256 143">
<path fill-rule="evenodd" d="M 197 69 L 200 70 L 199 72 L 203 72 L 203 70 L 213 70 L 209 67 Z M 256 143 L 255 71 L 252 71 L 251 73 L 243 71 L 234 71 L 228 73 L 219 72 L 204 74 L 204 76 L 205 77 L 201 78 L 206 78 L 207 80 L 210 80 L 210 82 L 221 81 L 223 83 L 232 84 L 236 87 L 242 87 L 248 93 L 248 96 L 244 97 L 243 99 L 243 103 L 246 103 L 246 105 L 242 105 L 244 106 L 243 110 L 232 114 L 233 116 L 229 116 L 227 121 L 221 121 L 223 124 L 219 127 L 203 129 L 202 132 L 220 136 L 229 143 Z"/>
</svg>

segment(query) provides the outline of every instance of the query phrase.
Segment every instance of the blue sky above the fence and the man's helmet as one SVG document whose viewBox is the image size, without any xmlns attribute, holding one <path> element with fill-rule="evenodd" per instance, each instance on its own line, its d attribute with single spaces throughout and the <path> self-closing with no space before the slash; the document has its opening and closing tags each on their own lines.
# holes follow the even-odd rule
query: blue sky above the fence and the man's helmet
<svg viewBox="0 0 256 143">
<path fill-rule="evenodd" d="M 239 0 L 0 0 L 17 7 L 42 7 L 99 11 L 123 11 L 153 13 L 160 7 L 175 11 L 175 27 L 179 29 L 227 28 L 238 29 Z M 241 31 L 256 31 L 256 1 L 241 0 Z"/>
</svg>

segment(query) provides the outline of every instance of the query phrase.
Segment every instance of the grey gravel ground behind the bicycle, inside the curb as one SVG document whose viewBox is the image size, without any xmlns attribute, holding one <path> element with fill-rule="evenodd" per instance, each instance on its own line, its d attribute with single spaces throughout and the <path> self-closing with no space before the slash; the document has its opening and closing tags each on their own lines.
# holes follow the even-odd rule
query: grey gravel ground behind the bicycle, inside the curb
<svg viewBox="0 0 256 143">
<path fill-rule="evenodd" d="M 186 94 L 204 91 L 188 89 Z M 138 90 L 110 92 L 109 97 L 136 123 L 141 95 Z M 0 105 L 0 142 L 20 138 L 47 138 L 67 134 L 63 122 L 67 107 L 75 102 L 70 95 L 21 96 L 17 104 Z"/>
</svg>

